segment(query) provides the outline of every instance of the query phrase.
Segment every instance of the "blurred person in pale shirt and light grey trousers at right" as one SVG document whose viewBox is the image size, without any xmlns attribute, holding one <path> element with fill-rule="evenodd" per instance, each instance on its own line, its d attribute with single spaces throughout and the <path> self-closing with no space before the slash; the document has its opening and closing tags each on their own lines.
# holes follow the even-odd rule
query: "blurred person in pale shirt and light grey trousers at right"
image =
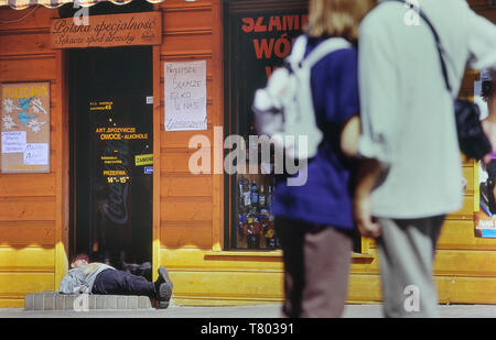
<svg viewBox="0 0 496 340">
<path fill-rule="evenodd" d="M 451 92 L 418 8 L 440 35 Z M 358 51 L 355 220 L 377 239 L 385 316 L 438 317 L 436 241 L 445 216 L 463 205 L 453 101 L 466 65 L 496 68 L 496 28 L 465 0 L 380 1 L 360 25 Z M 483 124 L 496 131 L 490 119 Z"/>
</svg>

